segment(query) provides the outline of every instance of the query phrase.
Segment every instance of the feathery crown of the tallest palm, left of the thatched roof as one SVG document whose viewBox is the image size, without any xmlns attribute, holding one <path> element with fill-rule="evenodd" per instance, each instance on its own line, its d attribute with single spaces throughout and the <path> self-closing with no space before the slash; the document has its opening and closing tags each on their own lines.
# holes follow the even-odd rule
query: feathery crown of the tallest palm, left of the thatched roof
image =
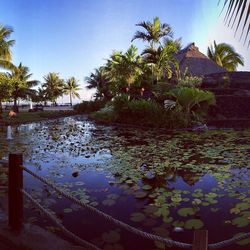
<svg viewBox="0 0 250 250">
<path fill-rule="evenodd" d="M 170 25 L 161 23 L 159 17 L 155 17 L 153 23 L 143 21 L 136 24 L 136 26 L 142 27 L 144 31 L 136 31 L 132 42 L 135 39 L 140 39 L 148 42 L 152 48 L 154 48 L 155 44 L 160 43 L 161 38 L 172 37 L 173 35 Z"/>
</svg>

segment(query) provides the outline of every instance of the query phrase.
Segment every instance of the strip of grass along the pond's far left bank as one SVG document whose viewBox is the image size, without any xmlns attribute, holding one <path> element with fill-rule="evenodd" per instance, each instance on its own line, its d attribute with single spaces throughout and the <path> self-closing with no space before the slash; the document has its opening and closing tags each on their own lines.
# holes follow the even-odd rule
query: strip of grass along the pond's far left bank
<svg viewBox="0 0 250 250">
<path fill-rule="evenodd" d="M 8 113 L 0 114 L 0 124 L 2 125 L 13 125 L 37 122 L 47 119 L 55 119 L 70 115 L 75 115 L 76 112 L 72 110 L 59 110 L 59 111 L 40 111 L 40 112 L 19 112 L 17 116 L 9 118 Z"/>
</svg>

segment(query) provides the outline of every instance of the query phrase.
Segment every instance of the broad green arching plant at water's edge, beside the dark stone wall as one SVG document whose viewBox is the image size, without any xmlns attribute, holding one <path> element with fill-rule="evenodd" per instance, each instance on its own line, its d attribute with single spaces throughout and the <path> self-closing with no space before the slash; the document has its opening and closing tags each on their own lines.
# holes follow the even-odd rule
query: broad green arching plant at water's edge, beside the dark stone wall
<svg viewBox="0 0 250 250">
<path fill-rule="evenodd" d="M 186 125 L 192 121 L 192 116 L 201 119 L 207 107 L 215 104 L 215 96 L 212 92 L 198 88 L 179 87 L 172 89 L 169 95 L 181 107 Z"/>
</svg>

